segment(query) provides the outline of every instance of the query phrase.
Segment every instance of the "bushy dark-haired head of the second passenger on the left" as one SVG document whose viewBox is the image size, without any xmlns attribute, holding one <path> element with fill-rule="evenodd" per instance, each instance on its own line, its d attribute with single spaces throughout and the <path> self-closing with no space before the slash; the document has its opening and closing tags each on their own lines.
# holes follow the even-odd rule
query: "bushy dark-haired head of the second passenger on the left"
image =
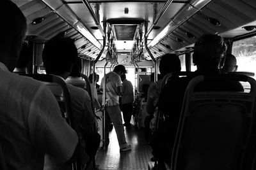
<svg viewBox="0 0 256 170">
<path fill-rule="evenodd" d="M 57 36 L 45 43 L 42 56 L 47 74 L 67 78 L 77 60 L 77 48 L 72 39 Z"/>
</svg>

